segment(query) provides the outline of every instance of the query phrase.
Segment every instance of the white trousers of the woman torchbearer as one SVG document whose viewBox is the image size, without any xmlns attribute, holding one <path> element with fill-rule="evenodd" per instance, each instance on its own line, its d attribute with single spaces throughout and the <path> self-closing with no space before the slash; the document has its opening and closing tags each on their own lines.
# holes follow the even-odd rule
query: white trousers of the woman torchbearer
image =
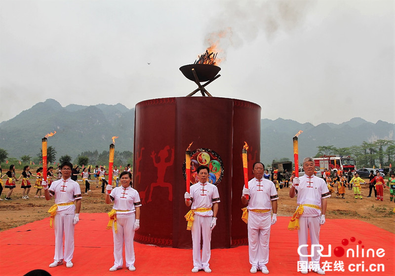
<svg viewBox="0 0 395 276">
<path fill-rule="evenodd" d="M 134 222 L 136 220 L 136 213 L 131 213 L 127 216 L 117 216 L 117 229 L 115 233 L 113 223 L 113 237 L 114 237 L 114 266 L 122 268 L 123 257 L 122 249 L 123 243 L 125 244 L 125 261 L 126 267 L 134 266 Z"/>
</svg>

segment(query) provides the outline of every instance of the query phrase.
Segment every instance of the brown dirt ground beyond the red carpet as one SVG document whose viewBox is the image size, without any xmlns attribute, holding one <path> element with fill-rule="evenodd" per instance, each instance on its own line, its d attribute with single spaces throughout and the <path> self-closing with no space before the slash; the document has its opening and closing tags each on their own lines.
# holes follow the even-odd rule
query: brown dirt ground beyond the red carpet
<svg viewBox="0 0 395 276">
<path fill-rule="evenodd" d="M 19 175 L 18 172 L 17 175 Z M 30 198 L 22 199 L 20 183 L 20 181 L 17 182 L 17 186 L 11 195 L 14 200 L 0 201 L 0 231 L 48 217 L 47 210 L 54 204 L 53 199 L 47 201 L 45 198 L 34 197 L 37 190 L 33 187 L 29 194 Z M 101 194 L 100 187 L 96 188 L 94 180 L 90 182 L 92 192 L 89 192 L 89 195 L 83 194 L 85 191 L 84 185 L 80 181 L 79 183 L 83 196 L 81 213 L 109 212 L 112 209 L 112 204 L 104 202 L 104 194 Z M 4 188 L 1 194 L 2 199 L 7 192 L 8 189 Z M 289 188 L 278 191 L 277 213 L 279 216 L 292 216 L 296 208 L 296 198 L 290 198 L 288 192 Z M 332 194 L 332 197 L 328 198 L 326 219 L 358 219 L 395 233 L 395 213 L 393 213 L 395 202 L 390 201 L 388 188 L 384 189 L 384 201 L 375 200 L 374 197 L 367 198 L 369 194 L 367 184 L 362 187 L 363 199 L 354 199 L 353 194 L 353 191 L 347 188 L 345 199 L 336 198 L 336 195 Z"/>
</svg>

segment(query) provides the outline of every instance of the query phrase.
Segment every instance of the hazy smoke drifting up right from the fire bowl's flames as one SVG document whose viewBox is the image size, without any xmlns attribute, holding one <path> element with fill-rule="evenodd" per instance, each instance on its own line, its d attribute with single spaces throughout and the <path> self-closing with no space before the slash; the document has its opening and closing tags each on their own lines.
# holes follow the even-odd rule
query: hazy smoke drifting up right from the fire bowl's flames
<svg viewBox="0 0 395 276">
<path fill-rule="evenodd" d="M 239 48 L 245 42 L 252 42 L 261 34 L 272 42 L 279 34 L 289 34 L 298 30 L 305 23 L 306 15 L 315 5 L 314 0 L 298 1 L 239 1 L 236 5 L 222 5 L 219 16 L 207 20 L 207 35 L 204 39 L 208 47 L 216 47 L 212 51 L 226 60 L 230 47 Z M 218 29 L 212 29 L 216 26 Z"/>
</svg>

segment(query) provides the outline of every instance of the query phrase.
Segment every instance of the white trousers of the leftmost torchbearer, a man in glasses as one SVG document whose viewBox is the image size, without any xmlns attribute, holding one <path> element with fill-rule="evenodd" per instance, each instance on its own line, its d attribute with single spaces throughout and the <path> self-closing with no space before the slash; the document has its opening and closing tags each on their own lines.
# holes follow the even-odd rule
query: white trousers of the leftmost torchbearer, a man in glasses
<svg viewBox="0 0 395 276">
<path fill-rule="evenodd" d="M 55 256 L 54 260 L 70 262 L 74 253 L 74 214 L 56 214 L 55 227 Z M 63 235 L 65 236 L 65 251 L 63 254 Z"/>
</svg>

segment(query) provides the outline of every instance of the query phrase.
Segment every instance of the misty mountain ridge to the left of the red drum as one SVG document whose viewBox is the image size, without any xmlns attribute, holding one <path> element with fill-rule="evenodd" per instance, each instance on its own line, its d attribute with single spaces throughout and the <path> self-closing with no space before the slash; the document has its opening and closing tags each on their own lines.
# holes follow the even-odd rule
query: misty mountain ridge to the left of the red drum
<svg viewBox="0 0 395 276">
<path fill-rule="evenodd" d="M 48 138 L 48 146 L 55 148 L 57 159 L 62 155 L 74 159 L 84 151 L 108 151 L 113 136 L 119 137 L 117 151 L 133 151 L 134 109 L 121 104 L 62 107 L 48 99 L 0 123 L 0 148 L 9 157 L 36 157 L 41 138 L 53 131 L 57 133 Z"/>
</svg>

